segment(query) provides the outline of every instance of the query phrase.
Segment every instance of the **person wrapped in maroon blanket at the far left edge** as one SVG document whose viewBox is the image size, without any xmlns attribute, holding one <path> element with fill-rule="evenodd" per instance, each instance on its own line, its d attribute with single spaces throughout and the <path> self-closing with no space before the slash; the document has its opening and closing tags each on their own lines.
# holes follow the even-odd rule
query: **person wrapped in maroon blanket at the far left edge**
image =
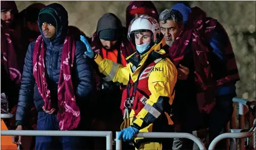
<svg viewBox="0 0 256 150">
<path fill-rule="evenodd" d="M 17 18 L 18 9 L 14 1 L 1 1 L 1 93 L 8 97 L 10 112 L 18 103 L 19 86 L 21 85 L 22 63 L 13 40 L 13 21 Z M 14 43 L 15 42 L 15 43 Z M 4 120 L 9 129 L 15 128 L 15 119 Z"/>
</svg>

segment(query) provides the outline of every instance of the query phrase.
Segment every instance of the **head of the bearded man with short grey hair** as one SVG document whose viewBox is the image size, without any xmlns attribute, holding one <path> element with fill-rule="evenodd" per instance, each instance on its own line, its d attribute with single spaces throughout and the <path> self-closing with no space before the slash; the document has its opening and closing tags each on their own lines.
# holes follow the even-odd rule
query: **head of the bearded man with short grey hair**
<svg viewBox="0 0 256 150">
<path fill-rule="evenodd" d="M 166 44 L 171 46 L 183 29 L 183 16 L 179 11 L 165 9 L 159 15 L 159 24 Z"/>
</svg>

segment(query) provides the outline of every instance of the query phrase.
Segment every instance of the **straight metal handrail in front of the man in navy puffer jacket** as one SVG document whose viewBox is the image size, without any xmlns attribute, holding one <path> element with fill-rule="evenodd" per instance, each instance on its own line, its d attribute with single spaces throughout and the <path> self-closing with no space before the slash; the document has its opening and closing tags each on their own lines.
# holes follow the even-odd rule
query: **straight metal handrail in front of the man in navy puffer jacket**
<svg viewBox="0 0 256 150">
<path fill-rule="evenodd" d="M 82 136 L 106 137 L 106 148 L 112 150 L 111 131 L 34 131 L 34 130 L 1 130 L 1 136 Z"/>
</svg>

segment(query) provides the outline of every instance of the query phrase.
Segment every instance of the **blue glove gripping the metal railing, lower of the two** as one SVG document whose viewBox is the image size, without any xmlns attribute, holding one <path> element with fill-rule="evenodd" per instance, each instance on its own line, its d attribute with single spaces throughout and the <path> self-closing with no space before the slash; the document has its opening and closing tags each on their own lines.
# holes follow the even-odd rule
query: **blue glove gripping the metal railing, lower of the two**
<svg viewBox="0 0 256 150">
<path fill-rule="evenodd" d="M 125 141 L 131 141 L 132 137 L 134 137 L 136 135 L 136 133 L 138 133 L 139 130 L 137 130 L 135 127 L 127 127 L 124 130 L 119 132 L 119 136 L 118 139 L 121 139 L 125 142 Z"/>
</svg>

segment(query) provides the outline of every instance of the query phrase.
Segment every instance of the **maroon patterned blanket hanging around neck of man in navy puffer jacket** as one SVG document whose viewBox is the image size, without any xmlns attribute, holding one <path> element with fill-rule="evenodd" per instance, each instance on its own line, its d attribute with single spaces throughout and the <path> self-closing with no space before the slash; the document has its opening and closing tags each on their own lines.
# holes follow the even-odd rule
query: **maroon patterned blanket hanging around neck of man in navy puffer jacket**
<svg viewBox="0 0 256 150">
<path fill-rule="evenodd" d="M 76 105 L 73 84 L 71 80 L 71 70 L 74 63 L 76 45 L 73 37 L 68 35 L 65 39 L 62 56 L 61 71 L 58 81 L 58 115 L 59 127 L 62 131 L 73 130 L 80 123 L 80 109 Z M 46 68 L 45 68 L 46 46 L 40 35 L 33 51 L 33 75 L 43 100 L 45 109 L 54 108 L 50 97 L 50 90 L 47 89 Z"/>
</svg>

